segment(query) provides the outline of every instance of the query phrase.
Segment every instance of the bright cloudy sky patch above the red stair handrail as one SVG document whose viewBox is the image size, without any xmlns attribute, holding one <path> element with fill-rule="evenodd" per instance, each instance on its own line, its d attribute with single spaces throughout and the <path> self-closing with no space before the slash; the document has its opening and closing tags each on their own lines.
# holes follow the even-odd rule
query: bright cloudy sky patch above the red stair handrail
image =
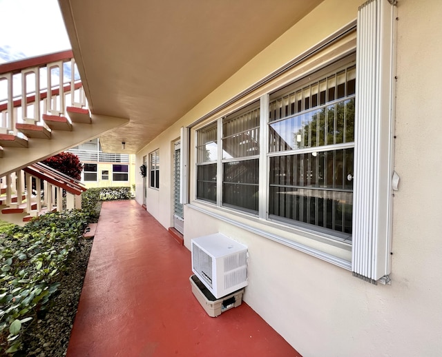
<svg viewBox="0 0 442 357">
<path fill-rule="evenodd" d="M 57 0 L 0 0 L 0 63 L 70 49 Z"/>
</svg>

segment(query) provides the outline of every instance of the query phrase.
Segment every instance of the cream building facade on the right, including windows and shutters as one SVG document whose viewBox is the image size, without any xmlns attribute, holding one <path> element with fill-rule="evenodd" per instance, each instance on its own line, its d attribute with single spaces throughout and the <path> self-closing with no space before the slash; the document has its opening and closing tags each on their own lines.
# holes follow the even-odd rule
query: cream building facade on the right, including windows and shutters
<svg viewBox="0 0 442 357">
<path fill-rule="evenodd" d="M 137 202 L 246 244 L 244 300 L 302 355 L 441 350 L 441 11 L 323 1 L 137 153 Z"/>
</svg>

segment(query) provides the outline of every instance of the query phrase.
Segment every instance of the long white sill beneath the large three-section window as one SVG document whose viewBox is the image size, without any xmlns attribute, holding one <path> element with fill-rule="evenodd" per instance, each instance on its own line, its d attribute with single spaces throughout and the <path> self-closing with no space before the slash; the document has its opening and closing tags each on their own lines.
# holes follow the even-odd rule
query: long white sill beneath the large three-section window
<svg viewBox="0 0 442 357">
<path fill-rule="evenodd" d="M 186 207 L 305 254 L 315 256 L 338 267 L 343 267 L 347 270 L 352 269 L 350 261 L 352 246 L 349 243 L 336 241 L 320 233 L 287 227 L 274 221 L 263 221 L 260 218 L 249 216 L 242 212 L 231 211 L 224 207 L 215 207 L 201 201 L 192 201 Z"/>
</svg>

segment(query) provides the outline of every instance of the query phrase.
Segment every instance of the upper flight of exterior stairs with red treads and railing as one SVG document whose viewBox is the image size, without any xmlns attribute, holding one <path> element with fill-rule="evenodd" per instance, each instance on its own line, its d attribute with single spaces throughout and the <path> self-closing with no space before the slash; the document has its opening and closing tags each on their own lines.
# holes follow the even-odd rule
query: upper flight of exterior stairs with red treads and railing
<svg viewBox="0 0 442 357">
<path fill-rule="evenodd" d="M 90 113 L 76 73 L 72 51 L 0 65 L 0 177 L 128 122 Z"/>
</svg>

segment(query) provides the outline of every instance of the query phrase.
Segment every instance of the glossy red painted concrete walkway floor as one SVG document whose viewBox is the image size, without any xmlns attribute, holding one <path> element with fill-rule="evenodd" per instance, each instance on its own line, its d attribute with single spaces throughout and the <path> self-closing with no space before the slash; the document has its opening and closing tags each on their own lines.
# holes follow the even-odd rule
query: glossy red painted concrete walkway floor
<svg viewBox="0 0 442 357">
<path fill-rule="evenodd" d="M 67 356 L 300 356 L 244 302 L 209 317 L 191 275 L 189 250 L 140 205 L 104 202 Z"/>
</svg>

